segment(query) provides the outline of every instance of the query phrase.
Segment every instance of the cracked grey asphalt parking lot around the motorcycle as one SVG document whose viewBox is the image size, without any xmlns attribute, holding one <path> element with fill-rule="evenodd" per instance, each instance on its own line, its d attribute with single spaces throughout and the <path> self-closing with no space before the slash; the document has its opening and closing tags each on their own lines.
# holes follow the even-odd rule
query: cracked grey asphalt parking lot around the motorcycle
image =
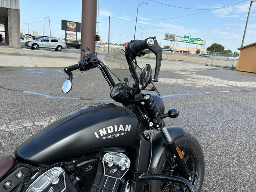
<svg viewBox="0 0 256 192">
<path fill-rule="evenodd" d="M 110 100 L 99 69 L 73 74 L 73 88 L 61 92 L 68 78 L 63 68 L 0 68 L 0 158 L 13 155 L 22 142 L 62 115 L 84 105 Z M 256 74 L 227 69 L 161 70 L 156 83 L 166 119 L 196 137 L 205 157 L 202 191 L 256 191 Z M 46 141 L 47 142 L 47 141 Z"/>
</svg>

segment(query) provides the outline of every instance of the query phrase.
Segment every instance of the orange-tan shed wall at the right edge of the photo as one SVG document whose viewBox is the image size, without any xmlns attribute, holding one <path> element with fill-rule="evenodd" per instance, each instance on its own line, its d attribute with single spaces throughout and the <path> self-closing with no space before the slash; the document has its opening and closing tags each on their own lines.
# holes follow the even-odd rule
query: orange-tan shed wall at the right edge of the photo
<svg viewBox="0 0 256 192">
<path fill-rule="evenodd" d="M 236 70 L 256 73 L 256 44 L 240 49 Z"/>
</svg>

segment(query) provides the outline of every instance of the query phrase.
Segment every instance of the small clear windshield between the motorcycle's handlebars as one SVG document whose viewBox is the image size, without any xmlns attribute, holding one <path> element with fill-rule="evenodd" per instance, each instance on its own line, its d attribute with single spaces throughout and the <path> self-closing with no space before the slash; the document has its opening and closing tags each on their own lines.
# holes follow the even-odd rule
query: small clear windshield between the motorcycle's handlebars
<svg viewBox="0 0 256 192">
<path fill-rule="evenodd" d="M 129 65 L 125 57 L 125 51 L 123 49 L 113 49 L 112 51 L 108 52 L 105 55 L 105 63 L 110 73 L 113 74 L 112 78 L 115 81 L 115 84 L 119 82 L 122 82 L 125 84 L 125 79 L 127 78 L 128 79 L 127 85 L 131 88 L 133 87 L 133 84 L 135 83 L 135 81 L 131 76 Z M 135 63 L 133 64 L 135 66 L 137 75 L 139 77 L 143 66 L 135 65 Z M 152 92 L 152 88 L 153 90 L 155 90 L 155 93 L 159 95 L 159 92 L 156 90 L 153 83 L 150 83 L 146 87 L 146 90 L 143 90 L 142 92 L 147 92 L 149 90 L 151 90 L 150 92 Z"/>
</svg>

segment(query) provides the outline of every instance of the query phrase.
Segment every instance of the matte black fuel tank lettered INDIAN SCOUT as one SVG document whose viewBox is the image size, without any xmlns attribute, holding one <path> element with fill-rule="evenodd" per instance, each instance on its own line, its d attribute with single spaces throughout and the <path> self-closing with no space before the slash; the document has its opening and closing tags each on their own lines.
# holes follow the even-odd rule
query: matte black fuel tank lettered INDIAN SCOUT
<svg viewBox="0 0 256 192">
<path fill-rule="evenodd" d="M 124 151 L 133 145 L 139 123 L 130 110 L 113 103 L 84 106 L 53 121 L 15 150 L 15 157 L 51 166 L 92 151 Z"/>
</svg>

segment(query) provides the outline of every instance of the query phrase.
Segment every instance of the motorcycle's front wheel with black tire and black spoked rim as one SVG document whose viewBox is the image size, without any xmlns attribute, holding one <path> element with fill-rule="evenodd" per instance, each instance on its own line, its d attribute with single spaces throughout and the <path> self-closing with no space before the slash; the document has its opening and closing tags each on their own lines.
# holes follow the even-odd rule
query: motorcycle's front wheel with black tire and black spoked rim
<svg viewBox="0 0 256 192">
<path fill-rule="evenodd" d="M 189 133 L 175 140 L 176 145 L 180 148 L 183 154 L 183 160 L 187 168 L 191 172 L 192 185 L 196 192 L 201 191 L 205 176 L 205 160 L 203 151 L 198 141 Z M 174 176 L 182 176 L 179 167 L 177 166 L 173 155 L 166 148 L 157 164 L 157 168 L 150 169 L 150 174 L 169 174 Z M 162 191 L 162 192 L 183 192 L 187 191 L 184 185 L 170 181 L 148 181 L 146 191 Z"/>
</svg>

